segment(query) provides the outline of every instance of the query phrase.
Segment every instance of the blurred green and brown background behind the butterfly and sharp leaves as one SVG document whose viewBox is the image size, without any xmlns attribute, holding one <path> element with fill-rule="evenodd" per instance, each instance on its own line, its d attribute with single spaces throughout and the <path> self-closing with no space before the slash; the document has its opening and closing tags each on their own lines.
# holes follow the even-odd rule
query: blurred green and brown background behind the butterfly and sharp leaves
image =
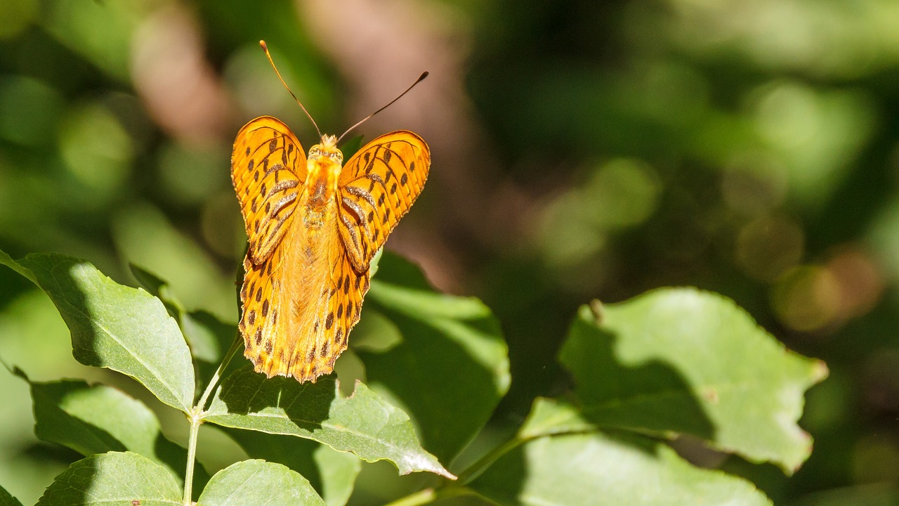
<svg viewBox="0 0 899 506">
<path fill-rule="evenodd" d="M 260 39 L 333 133 L 431 71 L 360 133 L 432 146 L 388 248 L 501 319 L 513 382 L 494 425 L 565 388 L 556 350 L 579 304 L 696 285 L 831 369 L 795 476 L 712 460 L 778 504 L 899 504 L 899 3 L 4 0 L 0 248 L 130 285 L 133 262 L 235 321 L 234 135 L 272 114 L 316 141 Z M 8 269 L 0 358 L 109 379 Z M 0 405 L 0 483 L 32 503 L 78 457 L 33 437 L 24 382 L 0 374 Z M 210 471 L 239 453 L 202 438 Z M 353 504 L 405 486 L 369 467 Z"/>
</svg>

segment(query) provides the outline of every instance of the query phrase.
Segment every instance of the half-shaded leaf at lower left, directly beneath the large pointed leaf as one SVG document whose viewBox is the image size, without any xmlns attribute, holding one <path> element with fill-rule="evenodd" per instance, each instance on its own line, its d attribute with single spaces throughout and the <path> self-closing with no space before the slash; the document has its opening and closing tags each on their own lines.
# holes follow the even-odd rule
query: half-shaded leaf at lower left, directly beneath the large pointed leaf
<svg viewBox="0 0 899 506">
<path fill-rule="evenodd" d="M 182 480 L 187 450 L 163 436 L 156 414 L 143 402 L 103 384 L 29 383 L 38 438 L 84 456 L 128 450 L 165 465 Z M 207 481 L 209 474 L 197 464 L 194 488 L 201 490 Z"/>
</svg>

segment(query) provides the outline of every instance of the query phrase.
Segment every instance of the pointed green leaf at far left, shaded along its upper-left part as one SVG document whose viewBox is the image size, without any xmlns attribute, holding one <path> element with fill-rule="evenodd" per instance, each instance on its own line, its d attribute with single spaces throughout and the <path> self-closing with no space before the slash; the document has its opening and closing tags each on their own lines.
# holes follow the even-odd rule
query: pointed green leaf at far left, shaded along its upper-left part
<svg viewBox="0 0 899 506">
<path fill-rule="evenodd" d="M 34 281 L 56 305 L 85 366 L 109 367 L 138 380 L 160 401 L 189 411 L 191 354 L 159 299 L 119 285 L 91 264 L 62 255 L 29 255 L 0 263 Z"/>
</svg>

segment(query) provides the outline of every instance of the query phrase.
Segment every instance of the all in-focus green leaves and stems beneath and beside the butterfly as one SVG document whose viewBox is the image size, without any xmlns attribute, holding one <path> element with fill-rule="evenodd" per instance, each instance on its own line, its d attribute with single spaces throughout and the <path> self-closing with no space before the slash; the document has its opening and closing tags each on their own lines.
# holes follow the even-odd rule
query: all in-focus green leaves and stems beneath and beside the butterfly
<svg viewBox="0 0 899 506">
<path fill-rule="evenodd" d="M 499 322 L 475 298 L 434 291 L 402 258 L 380 258 L 347 352 L 364 381 L 351 385 L 338 375 L 298 384 L 256 374 L 232 360 L 242 343 L 233 325 L 185 309 L 145 270 L 134 268 L 144 288 L 132 288 L 60 255 L 0 252 L 0 263 L 49 296 L 76 360 L 128 375 L 191 421 L 182 447 L 126 393 L 33 382 L 15 369 L 31 385 L 38 437 L 85 456 L 42 505 L 342 506 L 361 462 L 378 460 L 434 475 L 394 506 L 459 496 L 503 506 L 770 504 L 752 483 L 674 447 L 687 438 L 790 474 L 812 445 L 797 426 L 803 395 L 826 375 L 717 294 L 670 288 L 594 302 L 578 311 L 559 356 L 574 388 L 536 399 L 487 446 L 511 381 Z M 203 423 L 251 459 L 210 476 L 194 462 Z M 7 504 L 19 502 L 0 488 Z"/>
</svg>

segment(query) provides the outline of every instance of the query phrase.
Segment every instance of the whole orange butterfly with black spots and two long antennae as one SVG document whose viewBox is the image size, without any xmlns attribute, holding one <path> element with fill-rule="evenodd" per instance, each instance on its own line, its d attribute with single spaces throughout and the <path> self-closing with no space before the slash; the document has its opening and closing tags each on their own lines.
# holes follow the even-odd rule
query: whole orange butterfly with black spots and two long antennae
<svg viewBox="0 0 899 506">
<path fill-rule="evenodd" d="M 271 116 L 246 123 L 234 142 L 231 177 L 249 237 L 239 328 L 245 356 L 269 377 L 315 382 L 334 369 L 359 321 L 371 258 L 431 166 L 428 145 L 411 131 L 372 140 L 343 166 L 337 142 L 322 135 L 307 157 Z"/>
</svg>

